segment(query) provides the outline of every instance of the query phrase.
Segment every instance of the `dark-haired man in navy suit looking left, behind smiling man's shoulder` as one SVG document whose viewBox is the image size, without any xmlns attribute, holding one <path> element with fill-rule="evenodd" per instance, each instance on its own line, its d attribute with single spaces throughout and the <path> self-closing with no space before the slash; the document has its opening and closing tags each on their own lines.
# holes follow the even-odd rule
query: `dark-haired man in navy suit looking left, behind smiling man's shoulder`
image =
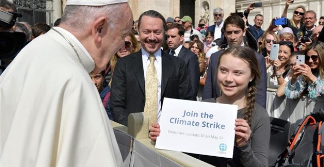
<svg viewBox="0 0 324 167">
<path fill-rule="evenodd" d="M 179 24 L 172 24 L 167 28 L 166 37 L 169 46 L 166 52 L 172 56 L 177 56 L 185 60 L 189 70 L 193 97 L 196 97 L 200 78 L 199 62 L 197 55 L 182 45 L 185 39 L 185 29 Z"/>
</svg>

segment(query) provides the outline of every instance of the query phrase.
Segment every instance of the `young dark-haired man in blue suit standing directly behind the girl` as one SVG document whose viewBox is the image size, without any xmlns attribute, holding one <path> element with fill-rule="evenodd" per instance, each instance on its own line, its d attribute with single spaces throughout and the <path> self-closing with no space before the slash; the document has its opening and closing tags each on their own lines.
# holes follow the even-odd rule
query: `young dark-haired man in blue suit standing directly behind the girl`
<svg viewBox="0 0 324 167">
<path fill-rule="evenodd" d="M 225 37 L 228 42 L 228 46 L 241 45 L 245 47 L 243 43 L 243 36 L 245 35 L 244 21 L 238 15 L 231 15 L 224 21 Z M 218 51 L 210 57 L 209 66 L 210 69 L 207 73 L 206 83 L 204 86 L 202 99 L 215 98 L 220 96 L 221 92 L 216 83 L 217 80 L 217 63 L 219 56 L 223 53 L 223 50 Z M 266 63 L 263 56 L 255 52 L 258 59 L 258 66 L 261 75 L 261 81 L 257 83 L 257 95 L 255 100 L 263 108 L 266 108 L 266 98 L 267 98 L 267 72 Z"/>
</svg>

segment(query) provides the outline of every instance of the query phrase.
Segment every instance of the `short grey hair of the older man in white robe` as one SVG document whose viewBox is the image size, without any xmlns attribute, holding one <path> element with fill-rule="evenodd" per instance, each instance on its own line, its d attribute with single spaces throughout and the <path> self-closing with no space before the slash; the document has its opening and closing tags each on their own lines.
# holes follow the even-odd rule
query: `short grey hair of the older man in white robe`
<svg viewBox="0 0 324 167">
<path fill-rule="evenodd" d="M 120 4 L 116 3 L 104 6 L 83 6 L 83 5 L 67 5 L 64 9 L 61 23 L 66 24 L 76 31 L 83 31 L 94 20 L 99 17 L 108 17 L 108 23 L 111 30 L 114 30 L 115 23 L 121 19 L 122 12 Z"/>
</svg>

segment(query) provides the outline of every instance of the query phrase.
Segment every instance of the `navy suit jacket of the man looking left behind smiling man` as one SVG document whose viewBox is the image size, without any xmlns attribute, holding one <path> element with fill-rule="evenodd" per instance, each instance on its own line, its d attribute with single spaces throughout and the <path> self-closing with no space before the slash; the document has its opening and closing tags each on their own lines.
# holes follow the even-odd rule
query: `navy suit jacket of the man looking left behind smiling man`
<svg viewBox="0 0 324 167">
<path fill-rule="evenodd" d="M 170 49 L 166 51 L 170 53 Z M 199 62 L 198 57 L 189 49 L 182 47 L 179 55 L 179 58 L 185 60 L 187 68 L 189 70 L 189 78 L 191 83 L 191 88 L 193 91 L 193 97 L 196 97 L 199 89 L 199 79 L 200 79 L 200 70 L 199 70 Z"/>
</svg>

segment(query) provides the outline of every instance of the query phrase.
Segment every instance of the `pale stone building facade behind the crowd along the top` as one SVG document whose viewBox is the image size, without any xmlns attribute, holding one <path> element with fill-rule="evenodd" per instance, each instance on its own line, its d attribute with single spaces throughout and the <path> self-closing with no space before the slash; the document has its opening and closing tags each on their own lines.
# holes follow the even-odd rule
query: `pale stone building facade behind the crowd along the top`
<svg viewBox="0 0 324 167">
<path fill-rule="evenodd" d="M 66 4 L 66 0 L 9 1 L 27 1 L 35 3 L 46 1 L 49 7 L 47 9 L 48 14 L 46 20 L 50 25 L 62 16 L 62 11 Z M 262 28 L 267 29 L 273 17 L 281 16 L 286 0 L 129 0 L 129 4 L 133 10 L 134 20 L 137 20 L 142 12 L 153 9 L 159 11 L 165 18 L 189 15 L 195 27 L 198 25 L 201 18 L 208 20 L 209 25 L 213 25 L 213 9 L 216 7 L 222 8 L 225 17 L 227 17 L 231 12 L 235 12 L 236 10 L 243 12 L 247 6 L 253 2 L 262 2 L 263 6 L 255 8 L 250 12 L 248 18 L 249 23 L 253 25 L 254 16 L 260 13 L 264 15 L 264 24 Z M 292 18 L 294 8 L 297 5 L 304 5 L 306 10 L 314 10 L 317 13 L 318 19 L 324 16 L 324 0 L 295 0 L 288 9 L 288 18 Z M 26 8 L 22 6 L 18 7 Z"/>
</svg>

